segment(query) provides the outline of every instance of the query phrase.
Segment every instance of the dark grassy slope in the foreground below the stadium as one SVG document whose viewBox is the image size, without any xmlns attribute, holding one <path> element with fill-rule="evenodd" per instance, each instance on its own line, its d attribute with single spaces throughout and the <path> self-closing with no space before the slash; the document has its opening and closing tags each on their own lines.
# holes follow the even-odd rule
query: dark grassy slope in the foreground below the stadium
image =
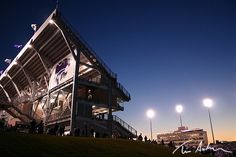
<svg viewBox="0 0 236 157">
<path fill-rule="evenodd" d="M 196 157 L 129 140 L 57 137 L 0 132 L 0 157 Z"/>
</svg>

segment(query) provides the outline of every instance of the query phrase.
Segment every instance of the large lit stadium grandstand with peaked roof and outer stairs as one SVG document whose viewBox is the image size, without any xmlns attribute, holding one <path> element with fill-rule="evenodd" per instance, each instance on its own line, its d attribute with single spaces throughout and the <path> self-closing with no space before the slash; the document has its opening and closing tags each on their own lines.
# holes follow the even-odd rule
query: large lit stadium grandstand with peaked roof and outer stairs
<svg viewBox="0 0 236 157">
<path fill-rule="evenodd" d="M 22 122 L 43 120 L 132 138 L 137 131 L 113 112 L 123 111 L 129 92 L 117 75 L 56 9 L 0 76 L 0 110 Z"/>
</svg>

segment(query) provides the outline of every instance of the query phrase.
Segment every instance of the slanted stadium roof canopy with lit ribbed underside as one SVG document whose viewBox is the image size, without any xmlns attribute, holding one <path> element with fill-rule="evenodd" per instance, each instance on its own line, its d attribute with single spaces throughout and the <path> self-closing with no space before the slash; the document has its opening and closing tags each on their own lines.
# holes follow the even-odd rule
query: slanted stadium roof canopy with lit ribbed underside
<svg viewBox="0 0 236 157">
<path fill-rule="evenodd" d="M 42 74 L 47 73 L 49 78 L 50 70 L 56 63 L 70 53 L 76 57 L 75 48 L 82 52 L 80 62 L 89 60 L 103 74 L 116 80 L 116 74 L 89 48 L 81 36 L 72 30 L 60 13 L 54 10 L 0 76 L 1 101 L 5 104 L 10 102 L 12 97 L 19 95 L 19 91 Z M 121 89 L 129 96 L 123 87 Z"/>
</svg>

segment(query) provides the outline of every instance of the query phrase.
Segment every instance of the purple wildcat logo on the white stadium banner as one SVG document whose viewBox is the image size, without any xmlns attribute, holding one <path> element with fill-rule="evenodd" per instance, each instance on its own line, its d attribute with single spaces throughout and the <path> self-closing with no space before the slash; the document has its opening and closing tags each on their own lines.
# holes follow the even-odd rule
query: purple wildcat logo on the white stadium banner
<svg viewBox="0 0 236 157">
<path fill-rule="evenodd" d="M 57 84 L 59 84 L 59 82 L 66 77 L 69 66 L 70 66 L 70 59 L 68 58 L 65 58 L 63 61 L 57 64 L 55 71 Z"/>
</svg>

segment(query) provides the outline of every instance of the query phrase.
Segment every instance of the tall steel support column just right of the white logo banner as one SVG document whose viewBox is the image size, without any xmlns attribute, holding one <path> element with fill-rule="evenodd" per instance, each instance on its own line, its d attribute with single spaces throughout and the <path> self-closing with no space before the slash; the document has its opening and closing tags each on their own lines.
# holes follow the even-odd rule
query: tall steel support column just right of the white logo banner
<svg viewBox="0 0 236 157">
<path fill-rule="evenodd" d="M 80 64 L 80 52 L 77 52 L 77 49 L 74 50 L 76 54 L 75 59 L 75 71 L 73 77 L 73 87 L 72 87 L 72 103 L 71 103 L 71 119 L 70 119 L 70 131 L 71 134 L 74 135 L 74 130 L 76 128 L 76 106 L 79 105 L 78 101 L 78 88 L 79 88 L 79 64 Z"/>
</svg>

